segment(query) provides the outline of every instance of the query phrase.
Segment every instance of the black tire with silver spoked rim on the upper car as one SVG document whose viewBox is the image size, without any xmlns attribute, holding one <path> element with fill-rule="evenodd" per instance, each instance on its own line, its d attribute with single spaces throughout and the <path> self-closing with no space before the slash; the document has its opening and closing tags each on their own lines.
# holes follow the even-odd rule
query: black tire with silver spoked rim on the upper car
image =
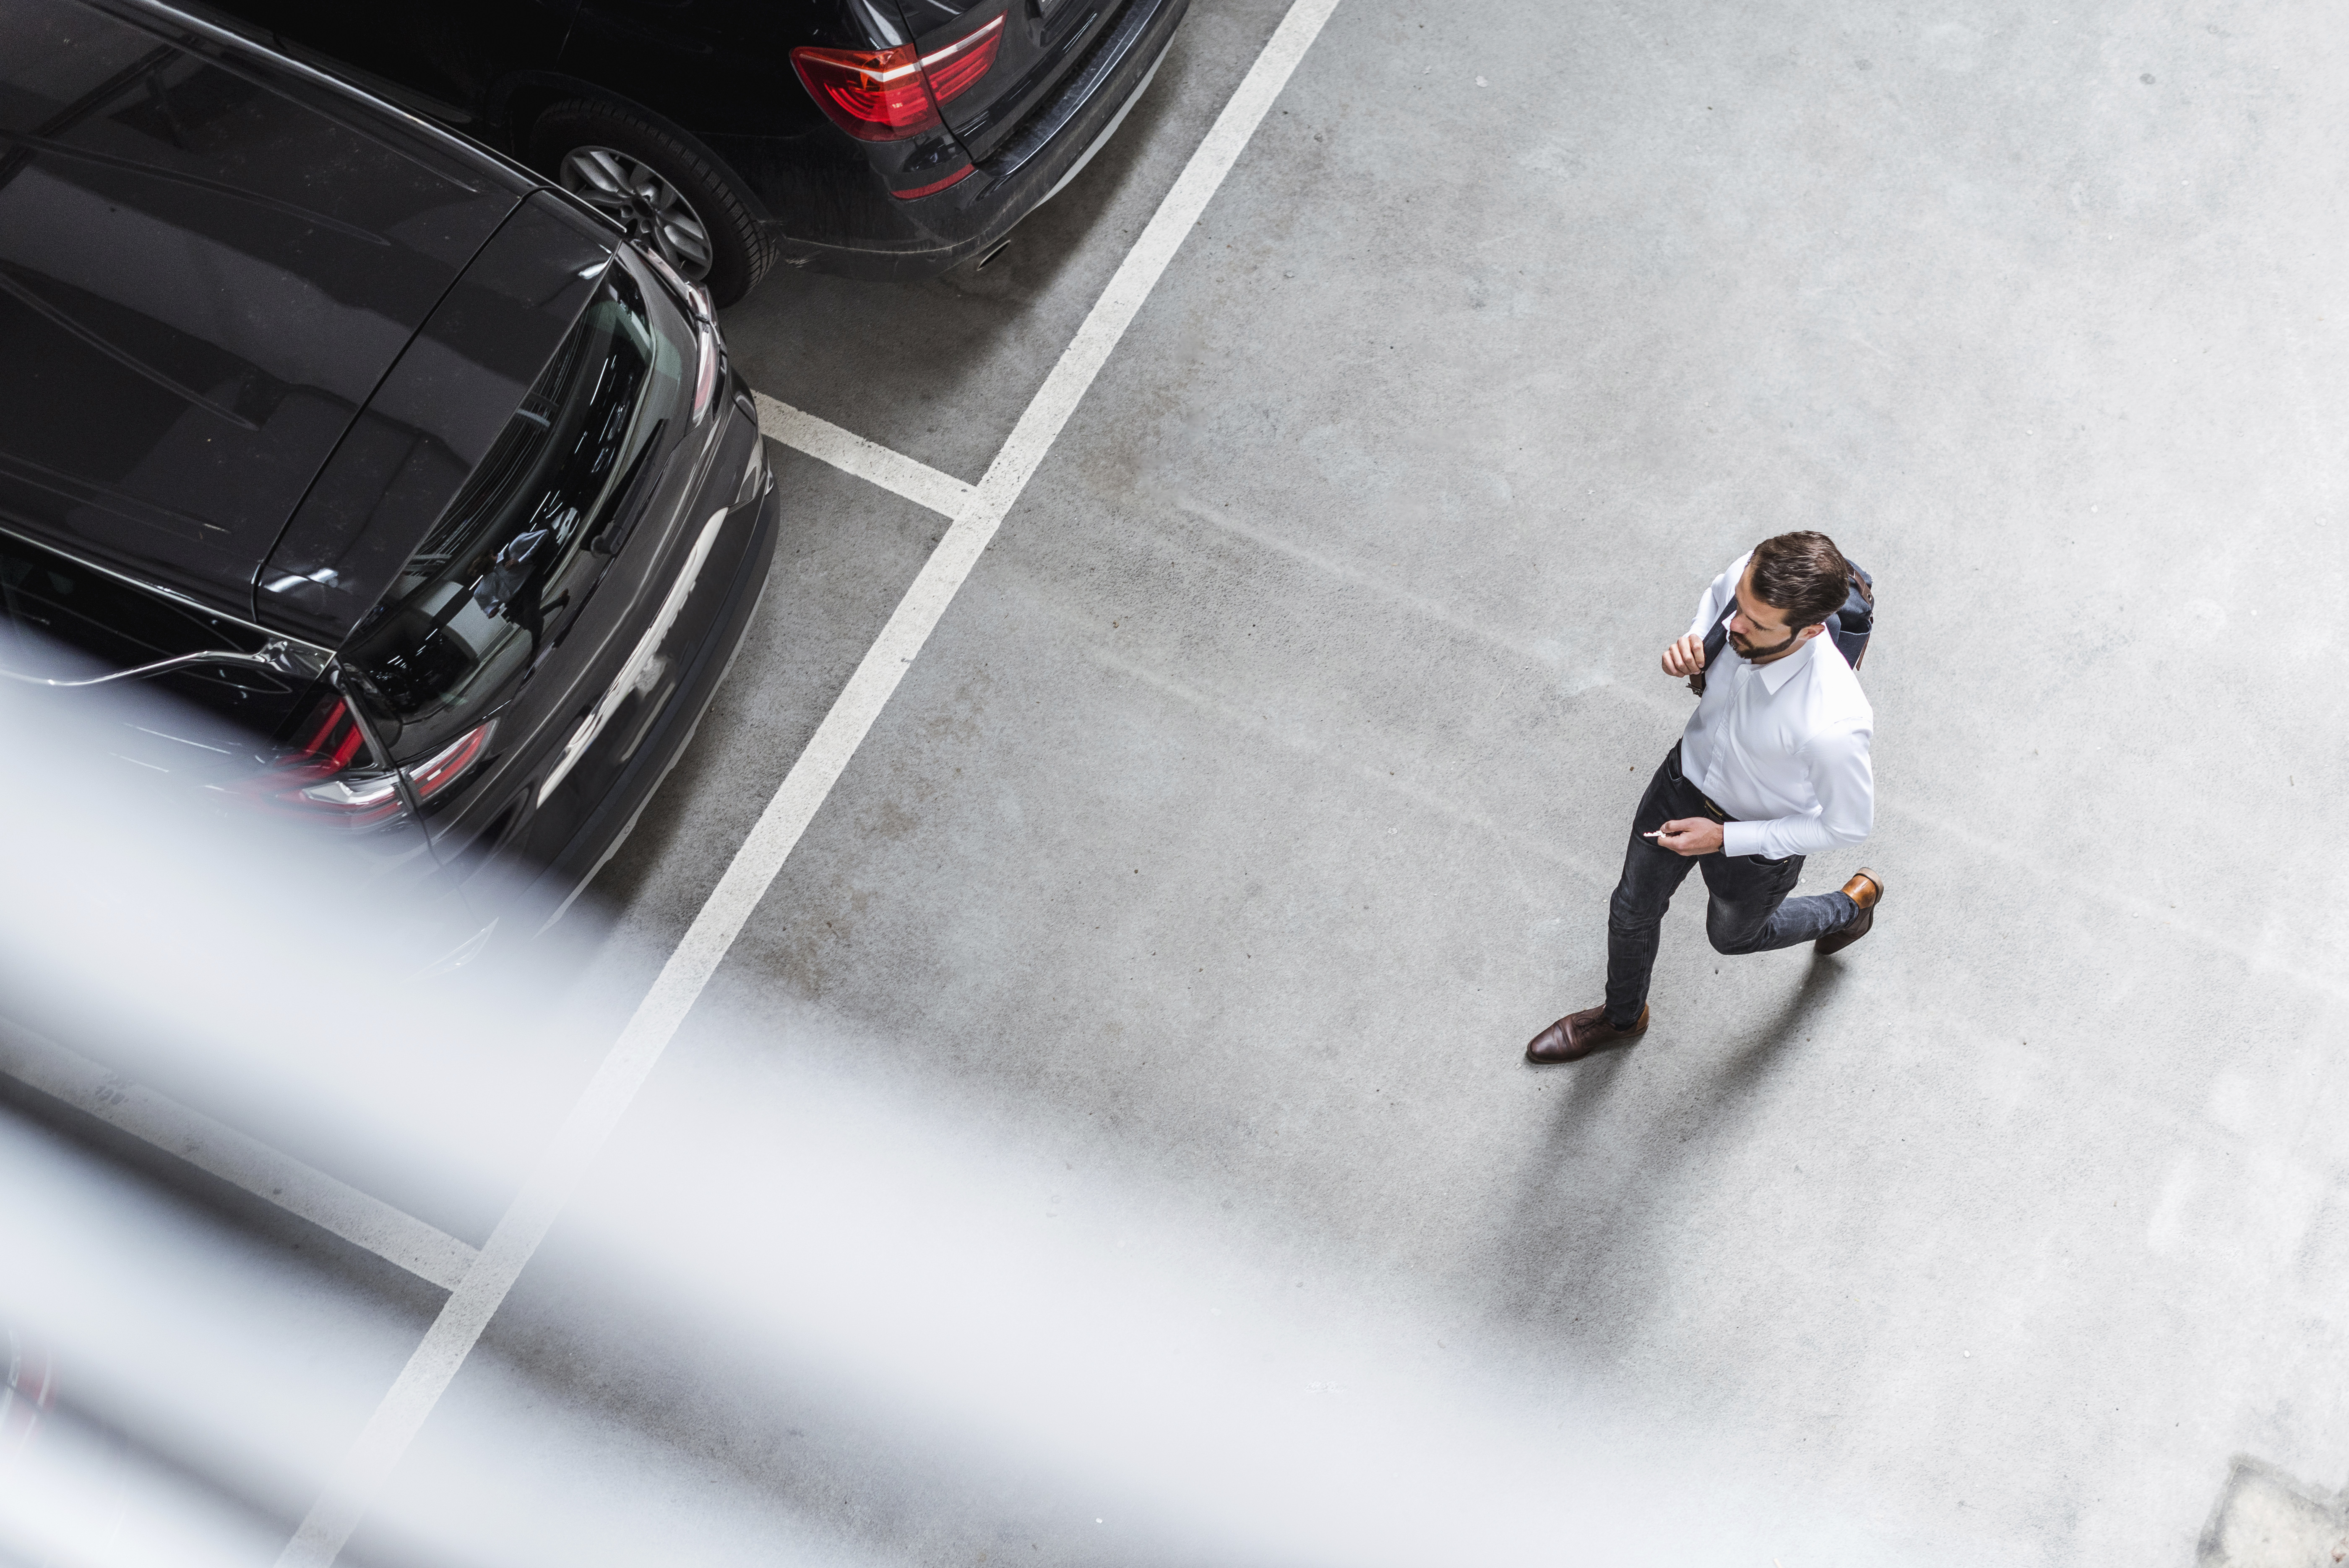
<svg viewBox="0 0 2349 1568">
<path fill-rule="evenodd" d="M 658 249 L 686 282 L 707 284 L 719 305 L 740 300 L 773 265 L 733 176 L 637 110 L 594 99 L 557 103 L 531 124 L 529 155 L 540 174 Z"/>
</svg>

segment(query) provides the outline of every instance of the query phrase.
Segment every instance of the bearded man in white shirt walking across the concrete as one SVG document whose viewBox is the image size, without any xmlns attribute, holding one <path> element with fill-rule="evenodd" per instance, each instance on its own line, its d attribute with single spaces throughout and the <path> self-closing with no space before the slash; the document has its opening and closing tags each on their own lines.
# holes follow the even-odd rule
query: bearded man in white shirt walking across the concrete
<svg viewBox="0 0 2349 1568">
<path fill-rule="evenodd" d="M 1839 953 L 1875 925 L 1875 871 L 1842 892 L 1790 899 L 1802 857 L 1856 845 L 1875 824 L 1860 681 L 1823 636 L 1851 594 L 1851 563 L 1823 533 L 1781 533 L 1729 563 L 1696 603 L 1663 674 L 1698 676 L 1701 697 L 1630 824 L 1623 880 L 1607 901 L 1607 1002 L 1534 1035 L 1525 1059 L 1581 1061 L 1647 1033 L 1647 974 L 1663 911 L 1689 866 L 1705 873 L 1705 937 L 1717 953 L 1816 941 Z M 1705 669 L 1705 634 L 1727 638 Z"/>
</svg>

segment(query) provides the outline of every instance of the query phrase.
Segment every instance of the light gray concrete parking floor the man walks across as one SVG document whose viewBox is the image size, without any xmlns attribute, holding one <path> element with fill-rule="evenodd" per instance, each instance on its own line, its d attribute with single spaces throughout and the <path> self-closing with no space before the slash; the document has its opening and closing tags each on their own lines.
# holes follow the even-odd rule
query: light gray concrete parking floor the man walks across
<svg viewBox="0 0 2349 1568">
<path fill-rule="evenodd" d="M 977 479 L 1278 9 L 1196 0 L 984 275 L 770 279 L 754 385 Z M 747 1033 L 1532 1345 L 1736 1451 L 1783 1568 L 2269 1561 L 2206 1535 L 2239 1467 L 2349 1474 L 2344 42 L 2217 0 L 1346 0 L 677 1070 Z M 615 995 L 937 533 L 778 465 L 778 592 L 599 887 Z M 1717 960 L 1684 894 L 1654 1033 L 1527 1068 L 1687 714 L 1656 653 L 1790 526 L 1879 582 L 1877 833 L 1804 878 L 1865 857 L 1875 934 Z M 1163 1556 L 876 1481 L 886 1434 L 794 1446 L 658 1314 L 557 1333 L 564 1268 L 458 1408 L 521 1368 L 869 1561 Z M 517 1519 L 587 1491 L 536 1486 Z M 1750 1523 L 1722 1561 L 1771 1561 Z"/>
</svg>

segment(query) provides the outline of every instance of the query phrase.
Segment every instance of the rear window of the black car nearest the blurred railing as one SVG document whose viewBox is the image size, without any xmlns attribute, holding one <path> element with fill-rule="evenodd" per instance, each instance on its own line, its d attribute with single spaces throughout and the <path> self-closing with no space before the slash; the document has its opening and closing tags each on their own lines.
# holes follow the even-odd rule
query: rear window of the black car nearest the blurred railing
<svg viewBox="0 0 2349 1568">
<path fill-rule="evenodd" d="M 505 432 L 343 650 L 402 763 L 489 718 L 561 638 L 658 477 L 684 326 L 613 263 Z M 646 484 L 639 484 L 646 481 Z"/>
</svg>

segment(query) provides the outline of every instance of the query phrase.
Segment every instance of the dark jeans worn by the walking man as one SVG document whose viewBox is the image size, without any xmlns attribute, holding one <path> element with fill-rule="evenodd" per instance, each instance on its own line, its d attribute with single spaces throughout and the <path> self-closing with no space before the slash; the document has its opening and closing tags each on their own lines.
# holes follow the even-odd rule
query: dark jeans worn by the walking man
<svg viewBox="0 0 2349 1568">
<path fill-rule="evenodd" d="M 1663 911 L 1672 904 L 1691 866 L 1705 873 L 1705 937 L 1715 953 L 1766 953 L 1790 948 L 1799 941 L 1816 941 L 1828 932 L 1851 925 L 1860 906 L 1842 892 L 1823 892 L 1809 899 L 1790 899 L 1795 880 L 1802 876 L 1802 857 L 1762 859 L 1759 854 L 1672 854 L 1656 845 L 1654 833 L 1665 822 L 1680 817 L 1712 817 L 1734 822 L 1684 777 L 1680 777 L 1680 746 L 1665 756 L 1656 777 L 1640 796 L 1640 812 L 1630 824 L 1630 847 L 1623 850 L 1623 880 L 1607 899 L 1607 1021 L 1630 1028 L 1647 1005 L 1647 974 L 1656 967 L 1656 932 Z"/>
</svg>

